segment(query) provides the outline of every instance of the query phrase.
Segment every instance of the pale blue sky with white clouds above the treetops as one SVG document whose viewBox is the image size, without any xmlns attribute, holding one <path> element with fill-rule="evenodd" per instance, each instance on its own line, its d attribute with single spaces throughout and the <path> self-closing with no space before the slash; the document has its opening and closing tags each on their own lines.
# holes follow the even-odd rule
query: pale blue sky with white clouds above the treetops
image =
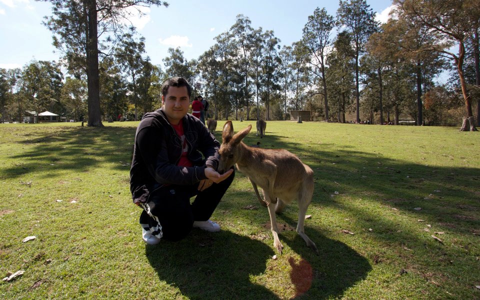
<svg viewBox="0 0 480 300">
<path fill-rule="evenodd" d="M 273 30 L 281 44 L 291 44 L 301 38 L 308 15 L 316 7 L 325 7 L 336 15 L 338 0 L 167 0 L 165 7 L 145 8 L 145 16 L 131 17 L 137 31 L 145 37 L 146 54 L 153 64 L 162 64 L 168 47 L 177 47 L 187 59 L 198 58 L 215 43 L 214 37 L 226 31 L 237 14 L 248 16 L 254 28 Z M 391 1 L 367 0 L 386 20 Z M 0 67 L 22 67 L 32 59 L 58 60 L 53 53 L 51 32 L 42 25 L 45 15 L 51 15 L 48 2 L 33 0 L 0 0 Z"/>
</svg>

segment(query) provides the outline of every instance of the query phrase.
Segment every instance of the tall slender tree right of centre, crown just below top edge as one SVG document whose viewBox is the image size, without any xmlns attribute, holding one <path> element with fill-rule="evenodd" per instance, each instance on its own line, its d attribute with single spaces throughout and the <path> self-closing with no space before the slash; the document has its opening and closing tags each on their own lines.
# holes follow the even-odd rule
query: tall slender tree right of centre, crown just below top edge
<svg viewBox="0 0 480 300">
<path fill-rule="evenodd" d="M 327 47 L 330 45 L 330 34 L 333 30 L 333 17 L 326 12 L 325 8 L 316 8 L 313 15 L 308 16 L 308 22 L 303 27 L 302 39 L 308 47 L 311 55 L 309 63 L 313 66 L 311 71 L 321 81 L 324 101 L 325 120 L 328 116 L 328 93 L 325 77 L 325 58 Z"/>
</svg>

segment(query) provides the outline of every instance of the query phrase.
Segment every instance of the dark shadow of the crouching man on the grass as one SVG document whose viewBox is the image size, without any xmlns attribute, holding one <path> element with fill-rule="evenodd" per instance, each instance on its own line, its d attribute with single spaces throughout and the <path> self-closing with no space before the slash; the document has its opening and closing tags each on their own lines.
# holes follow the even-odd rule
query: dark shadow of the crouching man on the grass
<svg viewBox="0 0 480 300">
<path fill-rule="evenodd" d="M 222 230 L 194 229 L 178 242 L 145 246 L 145 254 L 160 280 L 191 299 L 278 299 L 270 290 L 250 281 L 265 271 L 274 253 L 265 243 Z"/>
</svg>

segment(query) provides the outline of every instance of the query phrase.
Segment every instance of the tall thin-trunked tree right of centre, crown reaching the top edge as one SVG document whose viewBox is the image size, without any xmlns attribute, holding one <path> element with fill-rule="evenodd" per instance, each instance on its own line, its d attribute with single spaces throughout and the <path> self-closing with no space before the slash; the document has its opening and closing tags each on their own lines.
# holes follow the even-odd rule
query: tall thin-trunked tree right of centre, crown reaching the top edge
<svg viewBox="0 0 480 300">
<path fill-rule="evenodd" d="M 339 24 L 344 25 L 351 34 L 355 59 L 355 97 L 356 97 L 356 121 L 360 120 L 360 91 L 359 91 L 359 58 L 364 52 L 364 45 L 370 34 L 376 31 L 377 23 L 370 5 L 365 0 L 340 0 L 337 10 Z"/>
</svg>

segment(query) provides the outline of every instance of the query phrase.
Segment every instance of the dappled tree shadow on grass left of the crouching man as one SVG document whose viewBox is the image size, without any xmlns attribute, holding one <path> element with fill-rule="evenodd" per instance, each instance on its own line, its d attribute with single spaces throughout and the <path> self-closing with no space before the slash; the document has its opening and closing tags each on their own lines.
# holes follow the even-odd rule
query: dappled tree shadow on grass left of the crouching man
<svg viewBox="0 0 480 300">
<path fill-rule="evenodd" d="M 131 162 L 136 127 L 30 129 L 17 133 L 22 138 L 12 146 L 28 148 L 9 155 L 16 163 L 0 168 L 0 177 L 16 178 L 40 170 L 48 171 L 47 176 L 62 170 L 86 171 L 105 161 L 127 170 Z"/>
</svg>

